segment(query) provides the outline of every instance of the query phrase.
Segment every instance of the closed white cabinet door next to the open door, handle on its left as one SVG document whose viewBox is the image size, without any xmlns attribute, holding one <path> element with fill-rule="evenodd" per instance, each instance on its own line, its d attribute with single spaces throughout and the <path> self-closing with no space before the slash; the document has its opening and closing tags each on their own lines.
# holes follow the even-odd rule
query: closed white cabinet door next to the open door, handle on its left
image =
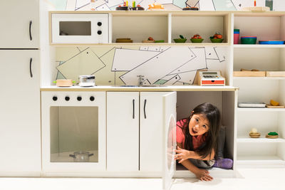
<svg viewBox="0 0 285 190">
<path fill-rule="evenodd" d="M 164 95 L 169 94 L 169 92 L 140 93 L 140 171 L 162 172 L 161 163 L 164 156 L 162 133 L 165 128 L 163 100 Z M 173 110 L 173 115 L 176 117 L 176 98 L 168 109 Z"/>
</svg>

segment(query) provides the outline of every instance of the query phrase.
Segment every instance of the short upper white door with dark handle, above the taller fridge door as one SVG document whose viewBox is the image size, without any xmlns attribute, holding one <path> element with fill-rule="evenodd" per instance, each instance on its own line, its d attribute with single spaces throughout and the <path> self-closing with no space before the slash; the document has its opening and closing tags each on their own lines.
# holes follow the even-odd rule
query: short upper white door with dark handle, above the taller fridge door
<svg viewBox="0 0 285 190">
<path fill-rule="evenodd" d="M 38 0 L 0 1 L 0 48 L 39 48 Z"/>
</svg>

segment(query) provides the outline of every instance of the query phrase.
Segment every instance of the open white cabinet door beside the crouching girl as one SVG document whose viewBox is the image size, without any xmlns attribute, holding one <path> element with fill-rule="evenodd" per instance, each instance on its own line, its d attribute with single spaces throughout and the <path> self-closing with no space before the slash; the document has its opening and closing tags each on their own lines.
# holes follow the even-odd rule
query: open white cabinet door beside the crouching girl
<svg viewBox="0 0 285 190">
<path fill-rule="evenodd" d="M 163 129 L 163 162 L 162 162 L 162 187 L 170 189 L 172 176 L 175 172 L 175 152 L 176 149 L 176 92 L 167 93 L 163 96 L 164 129 Z"/>
</svg>

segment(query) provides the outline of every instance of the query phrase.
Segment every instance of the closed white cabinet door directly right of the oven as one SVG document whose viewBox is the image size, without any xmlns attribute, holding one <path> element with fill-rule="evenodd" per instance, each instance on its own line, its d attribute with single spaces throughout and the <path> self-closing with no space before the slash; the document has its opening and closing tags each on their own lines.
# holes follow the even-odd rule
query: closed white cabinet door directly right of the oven
<svg viewBox="0 0 285 190">
<path fill-rule="evenodd" d="M 138 171 L 139 93 L 107 93 L 107 170 Z"/>
</svg>

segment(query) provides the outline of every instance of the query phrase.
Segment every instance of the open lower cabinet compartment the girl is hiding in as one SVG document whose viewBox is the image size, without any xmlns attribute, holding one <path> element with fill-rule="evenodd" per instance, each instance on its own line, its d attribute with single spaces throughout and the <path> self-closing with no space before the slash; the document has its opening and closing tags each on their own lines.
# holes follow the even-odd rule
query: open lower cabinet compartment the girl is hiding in
<svg viewBox="0 0 285 190">
<path fill-rule="evenodd" d="M 234 160 L 235 163 L 235 106 L 236 106 L 236 91 L 191 91 L 177 92 L 177 120 L 189 117 L 191 111 L 199 104 L 210 102 L 217 106 L 221 112 L 222 125 L 226 126 L 226 141 L 224 147 L 224 157 Z M 234 170 L 234 167 L 231 171 Z M 184 173 L 185 172 L 185 173 Z M 211 171 L 210 171 L 211 172 Z M 229 176 L 229 171 L 224 169 L 213 169 L 214 174 L 226 174 Z M 182 165 L 177 165 L 177 176 L 189 176 L 189 171 Z"/>
</svg>

